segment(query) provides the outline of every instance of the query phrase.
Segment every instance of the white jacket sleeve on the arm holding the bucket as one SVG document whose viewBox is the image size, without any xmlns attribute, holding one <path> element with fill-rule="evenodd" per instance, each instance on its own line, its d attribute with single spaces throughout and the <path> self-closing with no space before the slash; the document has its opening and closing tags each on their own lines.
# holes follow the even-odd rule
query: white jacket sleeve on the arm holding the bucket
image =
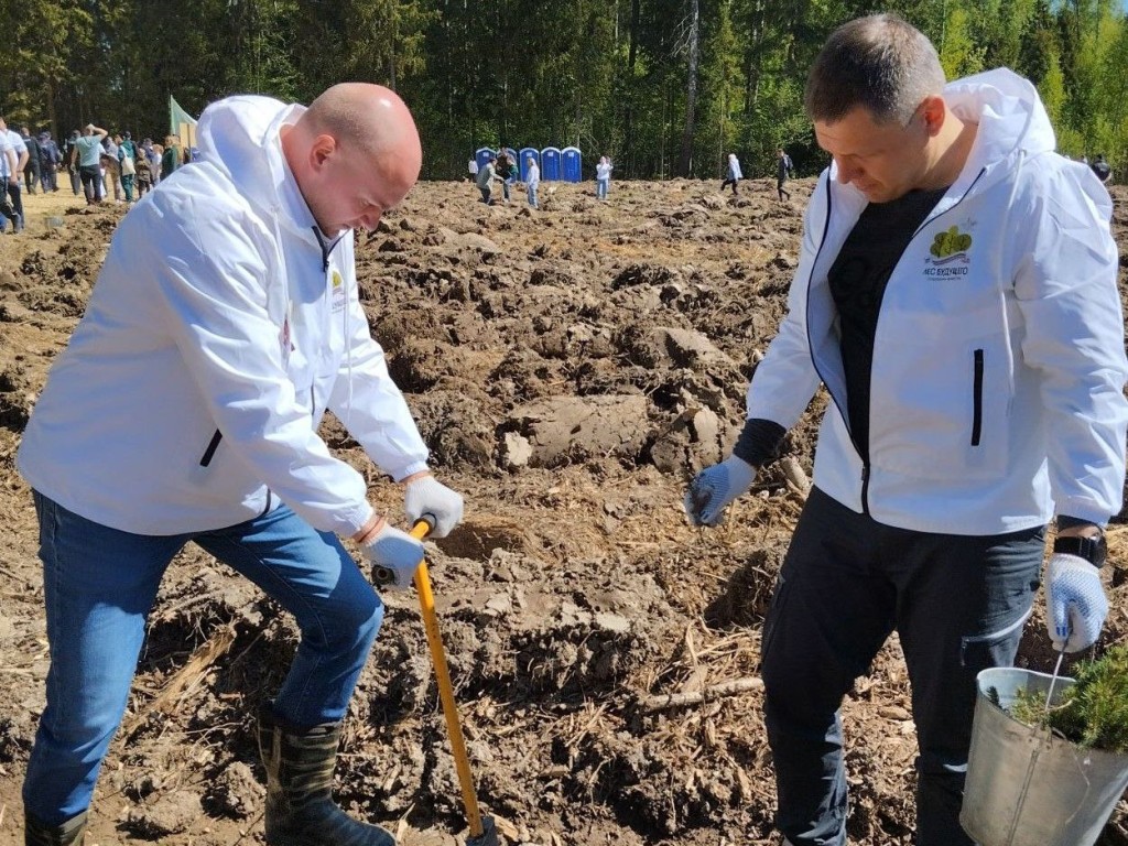
<svg viewBox="0 0 1128 846">
<path fill-rule="evenodd" d="M 1015 294 L 1022 355 L 1041 372 L 1055 510 L 1103 523 L 1120 511 L 1128 432 L 1111 202 L 1081 168 L 1043 174 L 1025 202 L 1032 220 Z"/>
</svg>

